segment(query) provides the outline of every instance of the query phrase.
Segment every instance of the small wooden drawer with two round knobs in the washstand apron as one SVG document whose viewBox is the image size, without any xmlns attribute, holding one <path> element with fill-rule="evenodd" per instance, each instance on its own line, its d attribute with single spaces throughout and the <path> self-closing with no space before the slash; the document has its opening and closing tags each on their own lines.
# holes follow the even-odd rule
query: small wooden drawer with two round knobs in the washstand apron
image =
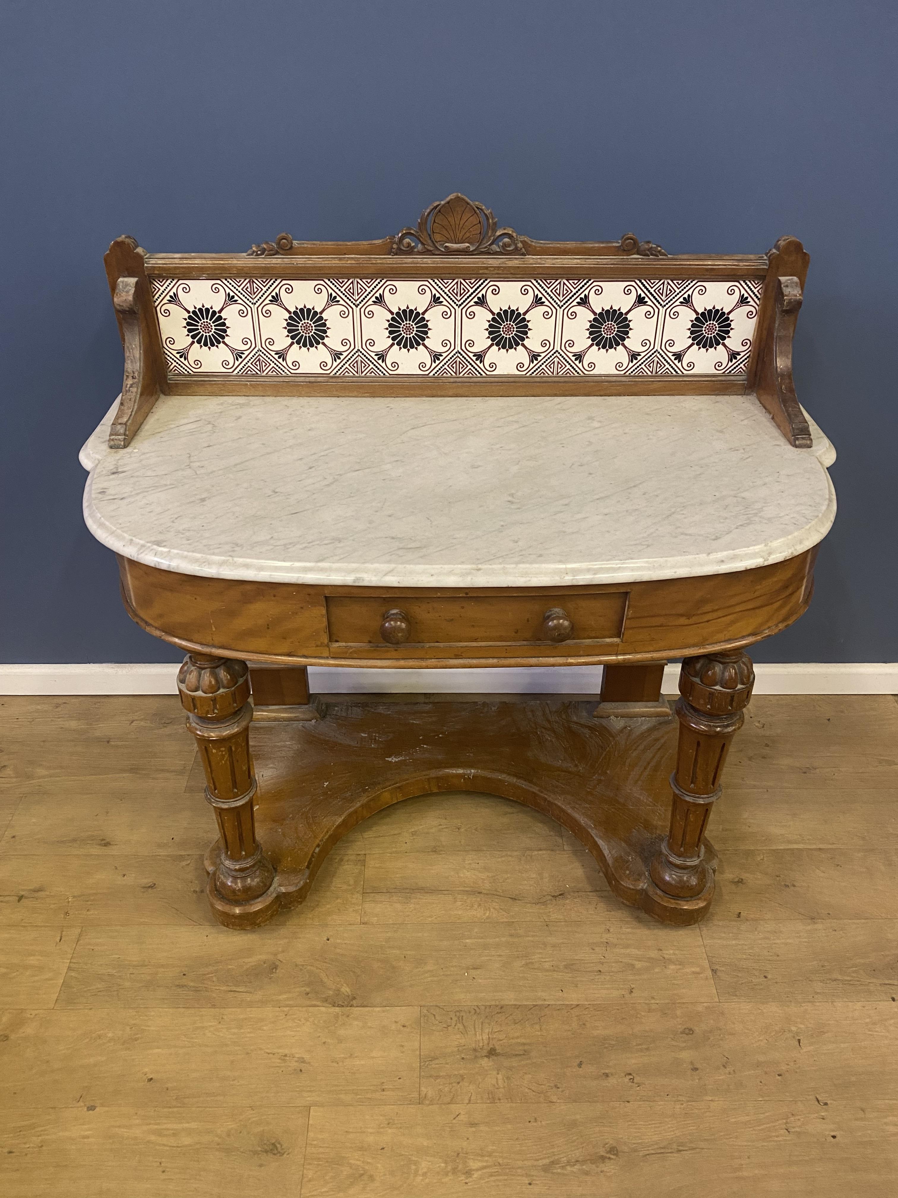
<svg viewBox="0 0 898 1198">
<path fill-rule="evenodd" d="M 626 591 L 553 595 L 328 595 L 329 645 L 387 652 L 423 646 L 486 648 L 618 641 Z M 392 613 L 387 618 L 388 612 Z M 548 616 L 547 613 L 552 613 Z"/>
</svg>

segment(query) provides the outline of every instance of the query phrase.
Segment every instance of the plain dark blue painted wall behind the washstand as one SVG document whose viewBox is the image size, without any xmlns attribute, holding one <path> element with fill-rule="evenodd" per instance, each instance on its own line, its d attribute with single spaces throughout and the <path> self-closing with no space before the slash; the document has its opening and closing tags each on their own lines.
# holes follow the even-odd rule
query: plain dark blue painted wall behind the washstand
<svg viewBox="0 0 898 1198">
<path fill-rule="evenodd" d="M 81 522 L 77 452 L 121 383 L 109 241 L 377 237 L 456 189 L 534 237 L 803 240 L 796 381 L 841 512 L 809 613 L 756 657 L 898 659 L 893 0 L 7 0 L 0 22 L 0 660 L 180 655 Z"/>
</svg>

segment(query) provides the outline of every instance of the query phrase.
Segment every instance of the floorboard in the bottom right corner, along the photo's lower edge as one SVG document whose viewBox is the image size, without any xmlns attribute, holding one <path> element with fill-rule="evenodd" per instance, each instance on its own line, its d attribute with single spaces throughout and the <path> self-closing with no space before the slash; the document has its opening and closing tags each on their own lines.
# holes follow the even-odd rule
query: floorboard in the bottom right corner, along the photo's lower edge
<svg viewBox="0 0 898 1198">
<path fill-rule="evenodd" d="M 886 1198 L 896 1143 L 876 1099 L 316 1107 L 303 1198 Z"/>
</svg>

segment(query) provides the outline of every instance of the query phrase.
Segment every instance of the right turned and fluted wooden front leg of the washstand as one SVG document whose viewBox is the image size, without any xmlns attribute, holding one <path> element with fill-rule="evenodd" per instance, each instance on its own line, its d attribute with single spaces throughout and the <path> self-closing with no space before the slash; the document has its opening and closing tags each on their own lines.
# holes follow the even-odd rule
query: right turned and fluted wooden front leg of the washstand
<svg viewBox="0 0 898 1198">
<path fill-rule="evenodd" d="M 752 661 L 741 649 L 682 662 L 671 830 L 649 869 L 653 910 L 669 922 L 700 919 L 714 895 L 714 873 L 704 861 L 702 841 L 753 685 Z"/>
</svg>

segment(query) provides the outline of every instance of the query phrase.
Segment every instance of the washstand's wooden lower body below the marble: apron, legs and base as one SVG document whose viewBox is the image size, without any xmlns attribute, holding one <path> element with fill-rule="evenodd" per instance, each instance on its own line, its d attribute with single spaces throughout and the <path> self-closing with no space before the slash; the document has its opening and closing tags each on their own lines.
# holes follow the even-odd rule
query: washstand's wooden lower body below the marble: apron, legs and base
<svg viewBox="0 0 898 1198">
<path fill-rule="evenodd" d="M 140 612 L 150 605 L 162 622 L 152 630 L 192 649 L 178 688 L 219 823 L 219 842 L 207 854 L 217 918 L 229 927 L 251 927 L 279 906 L 299 902 L 336 840 L 389 803 L 427 791 L 474 789 L 559 819 L 624 901 L 667 922 L 697 921 L 714 895 L 716 858 L 704 830 L 753 683 L 741 646 L 805 610 L 814 556 L 705 580 L 632 583 L 623 593 L 612 587 L 408 591 L 401 607 L 392 606 L 398 601 L 392 594 L 369 595 L 365 588 L 235 583 L 122 558 L 122 589 L 134 618 L 148 627 Z M 499 659 L 503 664 L 533 662 L 527 652 L 544 660 L 554 637 L 576 637 L 580 621 L 595 618 L 612 601 L 626 613 L 618 640 L 558 646 L 562 661 L 607 664 L 597 704 L 412 696 L 313 703 L 304 670 L 271 667 L 287 637 L 295 661 L 308 654 L 354 664 L 359 659 L 347 655 L 339 637 L 360 640 L 363 633 L 370 641 L 365 652 L 380 640 L 394 654 L 362 659 L 365 664 L 481 664 L 478 649 L 496 653 L 503 634 L 515 654 Z M 462 641 L 460 628 L 472 640 Z M 635 639 L 627 642 L 630 628 Z M 421 629 L 442 642 L 412 642 Z M 190 630 L 216 643 L 180 637 Z M 522 639 L 528 631 L 532 643 Z M 226 643 L 231 636 L 233 643 Z M 684 653 L 684 637 L 692 643 L 700 637 L 705 652 Z M 253 643 L 269 661 L 253 672 L 260 715 L 278 719 L 272 713 L 281 710 L 277 724 L 259 725 L 254 733 L 263 763 L 259 794 L 248 743 L 249 671 L 236 651 L 242 643 Z M 451 655 L 421 658 L 421 651 Z M 665 779 L 674 764 L 673 721 L 660 695 L 665 660 L 678 655 L 686 661 L 671 806 Z"/>
</svg>

